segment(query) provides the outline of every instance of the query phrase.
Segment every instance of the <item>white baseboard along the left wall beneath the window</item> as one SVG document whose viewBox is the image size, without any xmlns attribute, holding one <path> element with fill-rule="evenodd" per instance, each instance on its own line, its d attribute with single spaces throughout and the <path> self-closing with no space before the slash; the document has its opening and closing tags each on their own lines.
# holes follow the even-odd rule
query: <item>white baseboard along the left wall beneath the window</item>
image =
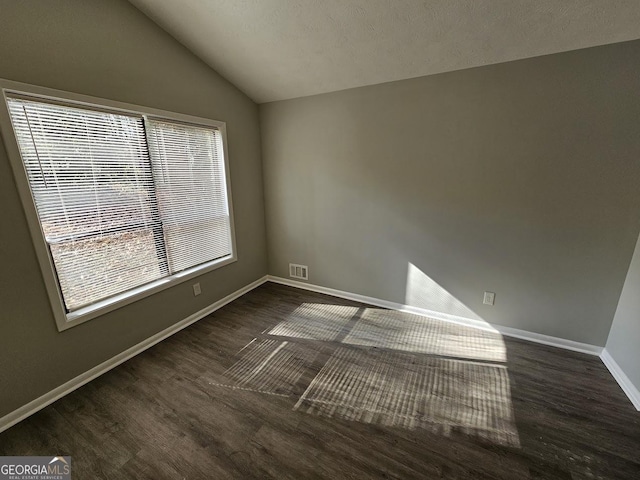
<svg viewBox="0 0 640 480">
<path fill-rule="evenodd" d="M 224 307 L 226 304 L 234 301 L 236 298 L 241 297 L 242 295 L 253 290 L 254 288 L 259 287 L 266 281 L 267 281 L 267 276 L 265 275 L 264 277 L 256 280 L 255 282 L 252 282 L 249 285 L 246 285 L 240 288 L 239 290 L 236 290 L 235 292 L 227 295 L 221 300 L 218 300 L 217 302 L 209 305 L 208 307 L 205 307 L 202 310 L 194 313 L 193 315 L 190 315 L 184 320 L 181 320 L 178 323 L 171 325 L 169 328 L 166 328 L 161 332 L 156 333 L 155 335 L 147 338 L 146 340 L 143 340 L 137 345 L 134 345 L 133 347 L 128 348 L 124 352 L 119 353 L 115 357 L 112 357 L 109 360 L 102 362 L 100 365 L 96 365 L 95 367 L 93 367 L 90 370 L 87 370 L 83 374 L 78 375 L 75 378 L 72 378 L 68 382 L 60 385 L 57 388 L 54 388 L 53 390 L 51 390 L 48 393 L 45 393 L 41 397 L 38 397 L 35 400 L 32 400 L 31 402 L 27 403 L 26 405 L 18 408 L 17 410 L 14 410 L 13 412 L 5 415 L 4 417 L 0 418 L 0 432 L 3 432 L 4 430 L 18 423 L 19 421 L 24 420 L 30 415 L 33 415 L 38 410 L 41 410 L 47 405 L 55 402 L 59 398 L 80 388 L 81 386 L 90 382 L 94 378 L 99 377 L 103 373 L 106 373 L 112 368 L 117 367 L 121 363 L 126 362 L 131 357 L 138 355 L 139 353 L 145 351 L 146 349 L 154 346 L 156 343 L 161 342 L 165 338 L 170 337 L 174 333 L 179 332 L 183 328 L 188 327 L 192 323 L 197 322 L 198 320 L 206 317 L 210 313 L 215 312 L 219 308 Z"/>
</svg>

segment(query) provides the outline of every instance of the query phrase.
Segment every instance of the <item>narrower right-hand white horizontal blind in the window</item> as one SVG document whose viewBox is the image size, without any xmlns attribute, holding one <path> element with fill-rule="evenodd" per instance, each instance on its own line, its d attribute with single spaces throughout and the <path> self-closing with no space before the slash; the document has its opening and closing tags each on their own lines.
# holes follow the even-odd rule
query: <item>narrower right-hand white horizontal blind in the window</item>
<svg viewBox="0 0 640 480">
<path fill-rule="evenodd" d="M 161 120 L 147 128 L 169 269 L 230 255 L 220 132 Z"/>
</svg>

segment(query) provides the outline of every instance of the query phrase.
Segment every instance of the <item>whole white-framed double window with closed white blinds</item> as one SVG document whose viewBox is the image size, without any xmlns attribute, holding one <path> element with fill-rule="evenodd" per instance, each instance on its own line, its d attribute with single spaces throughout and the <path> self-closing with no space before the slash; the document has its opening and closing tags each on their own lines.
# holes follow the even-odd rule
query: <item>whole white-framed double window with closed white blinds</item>
<svg viewBox="0 0 640 480">
<path fill-rule="evenodd" d="M 5 99 L 59 328 L 235 260 L 224 124 Z"/>
</svg>

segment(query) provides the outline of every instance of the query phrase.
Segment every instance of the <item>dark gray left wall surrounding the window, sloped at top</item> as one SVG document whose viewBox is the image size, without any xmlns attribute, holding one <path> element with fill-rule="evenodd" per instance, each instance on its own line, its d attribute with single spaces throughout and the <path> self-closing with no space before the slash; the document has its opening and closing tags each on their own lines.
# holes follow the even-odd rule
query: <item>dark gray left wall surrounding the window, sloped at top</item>
<svg viewBox="0 0 640 480">
<path fill-rule="evenodd" d="M 58 333 L 0 145 L 0 417 L 266 273 L 258 108 L 125 1 L 0 0 L 0 77 L 227 122 L 239 260 Z"/>
</svg>

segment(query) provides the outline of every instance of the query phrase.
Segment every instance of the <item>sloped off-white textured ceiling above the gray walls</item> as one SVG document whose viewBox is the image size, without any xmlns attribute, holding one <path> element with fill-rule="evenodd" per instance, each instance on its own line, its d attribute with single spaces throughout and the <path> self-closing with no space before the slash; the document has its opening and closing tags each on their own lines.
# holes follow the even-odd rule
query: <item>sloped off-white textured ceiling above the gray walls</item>
<svg viewBox="0 0 640 480">
<path fill-rule="evenodd" d="M 255 101 L 640 38 L 639 0 L 130 0 Z"/>
</svg>

